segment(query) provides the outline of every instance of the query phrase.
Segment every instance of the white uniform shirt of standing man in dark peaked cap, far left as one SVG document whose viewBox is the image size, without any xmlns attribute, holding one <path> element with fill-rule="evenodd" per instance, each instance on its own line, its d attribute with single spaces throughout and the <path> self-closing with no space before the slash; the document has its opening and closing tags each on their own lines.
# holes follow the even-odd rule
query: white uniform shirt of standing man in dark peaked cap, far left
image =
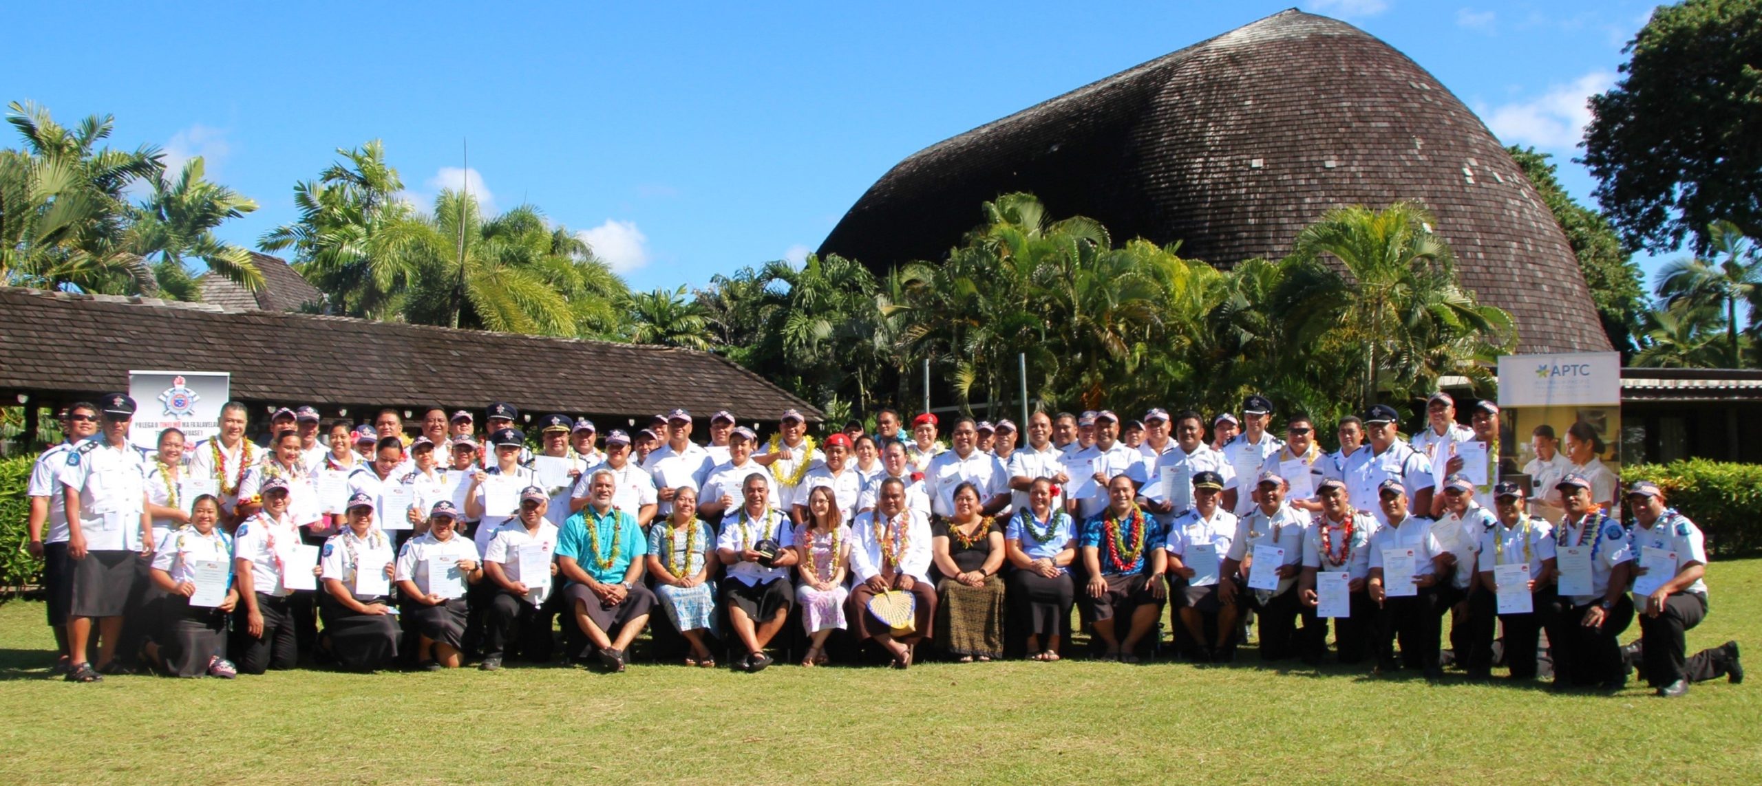
<svg viewBox="0 0 1762 786">
<path fill-rule="evenodd" d="M 62 485 L 79 492 L 79 530 L 92 552 L 141 548 L 141 511 L 146 509 L 146 467 L 141 451 L 102 439 L 67 451 Z"/>
</svg>

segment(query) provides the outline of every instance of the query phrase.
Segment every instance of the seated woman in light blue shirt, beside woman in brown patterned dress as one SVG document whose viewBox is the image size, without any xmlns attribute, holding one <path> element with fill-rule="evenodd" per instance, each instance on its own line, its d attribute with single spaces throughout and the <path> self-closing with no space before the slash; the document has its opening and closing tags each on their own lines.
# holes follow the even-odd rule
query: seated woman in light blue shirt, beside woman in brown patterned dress
<svg viewBox="0 0 1762 786">
<path fill-rule="evenodd" d="M 1077 522 L 1052 508 L 1052 478 L 1034 478 L 1027 506 L 1010 518 L 1004 530 L 1004 548 L 1015 566 L 1010 601 L 1025 622 L 1027 659 L 1057 661 L 1059 636 L 1071 620 L 1077 594 L 1070 569 L 1077 560 Z"/>
</svg>

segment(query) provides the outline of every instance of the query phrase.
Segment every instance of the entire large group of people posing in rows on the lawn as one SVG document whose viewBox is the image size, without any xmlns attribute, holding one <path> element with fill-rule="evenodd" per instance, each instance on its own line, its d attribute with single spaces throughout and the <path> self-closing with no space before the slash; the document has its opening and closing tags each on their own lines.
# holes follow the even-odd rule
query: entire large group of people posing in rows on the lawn
<svg viewBox="0 0 1762 786">
<path fill-rule="evenodd" d="M 1325 663 L 1332 627 L 1339 663 L 1438 677 L 1448 615 L 1450 657 L 1478 678 L 1545 664 L 1556 686 L 1619 689 L 1637 663 L 1663 696 L 1743 678 L 1734 641 L 1684 652 L 1706 552 L 1658 486 L 1623 493 L 1588 425 L 1563 451 L 1538 428 L 1519 474 L 1498 405 L 1475 402 L 1464 426 L 1447 393 L 1411 439 L 1387 405 L 1344 418 L 1334 453 L 1302 414 L 1270 434 L 1260 395 L 1210 423 L 1036 412 L 1025 444 L 971 418 L 944 444 L 934 414 L 907 432 L 892 409 L 876 434 L 823 441 L 796 411 L 768 441 L 715 412 L 708 444 L 682 409 L 604 439 L 550 414 L 529 444 L 497 402 L 481 432 L 432 407 L 414 437 L 393 409 L 363 426 L 282 409 L 259 446 L 227 404 L 211 439 L 167 428 L 144 451 L 134 407 L 69 407 L 30 479 L 56 671 L 76 682 L 303 657 L 499 670 L 559 643 L 622 671 L 650 627 L 687 666 L 721 654 L 758 671 L 791 624 L 782 641 L 809 668 L 849 640 L 895 668 L 925 641 L 962 663 L 1057 661 L 1073 606 L 1096 657 L 1136 663 L 1163 645 L 1170 601 L 1172 647 L 1193 661 L 1232 661 L 1253 617 L 1265 661 Z"/>
</svg>

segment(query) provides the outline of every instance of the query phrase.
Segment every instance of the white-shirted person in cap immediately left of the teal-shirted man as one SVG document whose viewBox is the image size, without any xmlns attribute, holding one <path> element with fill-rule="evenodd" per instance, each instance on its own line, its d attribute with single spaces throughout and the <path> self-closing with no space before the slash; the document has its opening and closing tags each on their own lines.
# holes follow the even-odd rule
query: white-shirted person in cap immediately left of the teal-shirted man
<svg viewBox="0 0 1762 786">
<path fill-rule="evenodd" d="M 483 575 L 499 592 L 490 601 L 483 636 L 483 663 L 478 668 L 502 668 L 507 645 L 520 643 L 529 661 L 544 663 L 552 656 L 550 617 L 541 608 L 550 599 L 557 575 L 557 525 L 544 520 L 550 493 L 539 486 L 520 492 L 520 515 L 497 527 L 483 550 Z"/>
</svg>

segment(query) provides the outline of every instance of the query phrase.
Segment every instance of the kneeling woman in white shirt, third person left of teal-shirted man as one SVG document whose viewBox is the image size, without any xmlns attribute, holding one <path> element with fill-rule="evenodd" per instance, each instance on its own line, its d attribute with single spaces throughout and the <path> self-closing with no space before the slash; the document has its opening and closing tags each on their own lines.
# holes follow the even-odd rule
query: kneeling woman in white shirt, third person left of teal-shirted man
<svg viewBox="0 0 1762 786">
<path fill-rule="evenodd" d="M 347 516 L 319 557 L 319 619 L 338 666 L 374 671 L 398 657 L 398 624 L 386 604 L 395 555 L 391 539 L 374 527 L 374 497 L 351 495 Z"/>
</svg>

